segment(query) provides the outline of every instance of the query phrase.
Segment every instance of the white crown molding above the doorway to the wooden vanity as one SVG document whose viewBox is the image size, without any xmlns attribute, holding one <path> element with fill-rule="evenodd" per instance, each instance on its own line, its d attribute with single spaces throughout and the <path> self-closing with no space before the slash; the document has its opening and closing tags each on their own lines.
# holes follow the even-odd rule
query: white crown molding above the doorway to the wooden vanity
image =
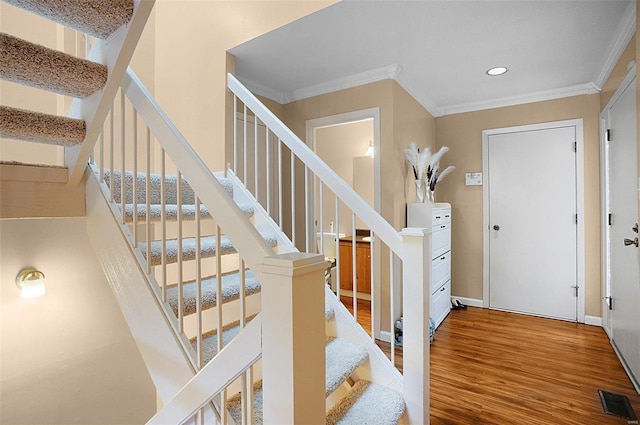
<svg viewBox="0 0 640 425">
<path fill-rule="evenodd" d="M 284 97 L 287 99 L 287 103 L 289 103 L 295 102 L 296 100 L 307 99 L 313 96 L 333 93 L 338 90 L 345 90 L 357 86 L 362 86 L 364 84 L 375 83 L 388 79 L 396 79 L 396 77 L 400 74 L 400 70 L 400 65 L 398 64 L 387 65 L 381 68 L 375 68 L 369 71 L 361 72 L 359 74 L 353 74 L 344 78 L 327 81 L 315 86 L 292 90 L 290 92 L 284 93 Z"/>
</svg>

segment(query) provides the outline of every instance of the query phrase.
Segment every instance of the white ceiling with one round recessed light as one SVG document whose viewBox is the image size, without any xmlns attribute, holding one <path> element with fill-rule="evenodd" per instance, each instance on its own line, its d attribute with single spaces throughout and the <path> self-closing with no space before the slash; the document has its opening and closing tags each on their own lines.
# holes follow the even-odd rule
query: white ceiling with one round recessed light
<svg viewBox="0 0 640 425">
<path fill-rule="evenodd" d="M 595 93 L 635 22 L 634 0 L 344 0 L 230 52 L 280 103 L 393 78 L 441 116 Z"/>
</svg>

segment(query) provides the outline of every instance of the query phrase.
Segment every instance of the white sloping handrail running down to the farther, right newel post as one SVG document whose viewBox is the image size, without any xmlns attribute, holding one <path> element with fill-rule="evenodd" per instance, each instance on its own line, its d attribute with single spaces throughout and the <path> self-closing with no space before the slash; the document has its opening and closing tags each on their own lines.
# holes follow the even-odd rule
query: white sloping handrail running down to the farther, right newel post
<svg viewBox="0 0 640 425">
<path fill-rule="evenodd" d="M 398 257 L 403 258 L 402 237 L 375 209 L 344 182 L 296 134 L 271 112 L 231 73 L 228 88 L 308 167 L 326 186 L 379 237 Z"/>
</svg>

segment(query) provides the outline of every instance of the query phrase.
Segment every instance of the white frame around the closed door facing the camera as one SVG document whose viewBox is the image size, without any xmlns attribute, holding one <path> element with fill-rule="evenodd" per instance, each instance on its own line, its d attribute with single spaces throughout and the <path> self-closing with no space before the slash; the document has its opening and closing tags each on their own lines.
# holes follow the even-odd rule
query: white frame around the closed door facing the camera
<svg viewBox="0 0 640 425">
<path fill-rule="evenodd" d="M 489 136 L 496 134 L 550 130 L 561 127 L 575 127 L 576 130 L 576 212 L 578 224 L 576 232 L 576 278 L 579 286 L 576 317 L 579 323 L 585 321 L 585 247 L 584 247 L 584 133 L 582 118 L 553 121 L 513 127 L 494 128 L 482 131 L 482 173 L 489 174 Z M 482 306 L 489 308 L 489 179 L 482 185 Z"/>
</svg>

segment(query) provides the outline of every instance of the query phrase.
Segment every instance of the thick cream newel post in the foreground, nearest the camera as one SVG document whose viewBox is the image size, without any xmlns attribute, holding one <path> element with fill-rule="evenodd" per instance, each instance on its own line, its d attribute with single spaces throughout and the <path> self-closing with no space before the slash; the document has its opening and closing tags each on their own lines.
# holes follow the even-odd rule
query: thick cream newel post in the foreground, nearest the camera
<svg viewBox="0 0 640 425">
<path fill-rule="evenodd" d="M 325 319 L 322 255 L 267 257 L 262 283 L 265 424 L 325 423 Z"/>
</svg>

